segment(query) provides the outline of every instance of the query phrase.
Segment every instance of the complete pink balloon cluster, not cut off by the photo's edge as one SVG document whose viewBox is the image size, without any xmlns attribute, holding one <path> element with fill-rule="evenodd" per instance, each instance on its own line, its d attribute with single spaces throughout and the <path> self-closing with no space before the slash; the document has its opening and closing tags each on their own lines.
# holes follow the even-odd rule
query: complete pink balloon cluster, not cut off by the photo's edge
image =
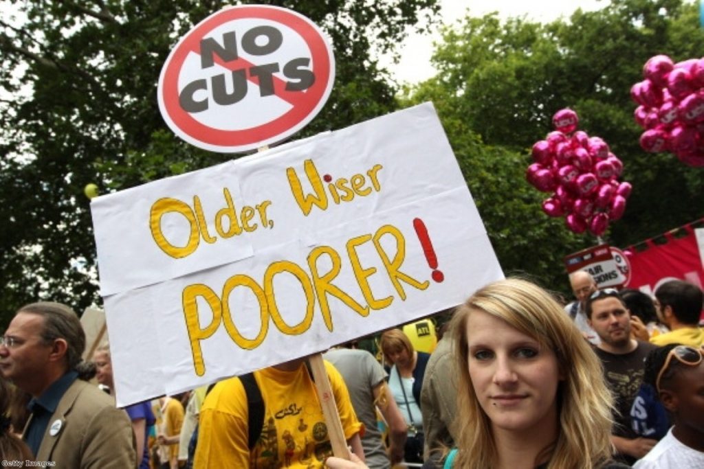
<svg viewBox="0 0 704 469">
<path fill-rule="evenodd" d="M 606 142 L 577 130 L 578 123 L 571 109 L 555 113 L 555 131 L 534 144 L 534 163 L 526 179 L 539 191 L 553 192 L 543 200 L 543 212 L 550 217 L 564 215 L 574 233 L 589 229 L 601 236 L 610 221 L 622 217 L 631 184 L 618 181 L 623 163 Z"/>
</svg>

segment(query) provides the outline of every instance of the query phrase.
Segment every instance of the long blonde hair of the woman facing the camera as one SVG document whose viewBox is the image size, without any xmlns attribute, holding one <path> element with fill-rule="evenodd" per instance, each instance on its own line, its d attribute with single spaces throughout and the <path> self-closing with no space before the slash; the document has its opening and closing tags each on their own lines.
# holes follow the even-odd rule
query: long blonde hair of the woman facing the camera
<svg viewBox="0 0 704 469">
<path fill-rule="evenodd" d="M 479 289 L 453 318 L 458 389 L 463 390 L 458 392 L 461 417 L 455 468 L 485 469 L 498 463 L 491 421 L 479 405 L 467 366 L 467 318 L 472 311 L 506 321 L 555 352 L 565 380 L 560 381 L 556 396 L 558 438 L 539 455 L 550 456 L 548 469 L 593 469 L 606 463 L 612 454 L 612 397 L 601 361 L 549 293 L 529 281 L 508 278 Z"/>
</svg>

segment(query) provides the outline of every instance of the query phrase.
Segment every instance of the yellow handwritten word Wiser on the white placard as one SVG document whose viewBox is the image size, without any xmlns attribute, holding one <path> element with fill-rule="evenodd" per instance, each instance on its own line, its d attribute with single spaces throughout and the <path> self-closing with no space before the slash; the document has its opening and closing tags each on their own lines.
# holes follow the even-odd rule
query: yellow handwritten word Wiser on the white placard
<svg viewBox="0 0 704 469">
<path fill-rule="evenodd" d="M 313 187 L 314 192 L 308 194 L 303 193 L 301 179 L 298 178 L 294 168 L 287 168 L 286 175 L 289 179 L 289 186 L 291 186 L 291 193 L 294 194 L 301 212 L 307 217 L 310 211 L 313 210 L 313 205 L 320 210 L 327 209 L 328 193 L 330 198 L 332 198 L 332 202 L 339 205 L 342 202 L 351 202 L 357 195 L 360 197 L 370 195 L 372 189 L 377 192 L 381 191 L 382 186 L 379 184 L 379 171 L 381 169 L 383 169 L 382 165 L 374 165 L 366 172 L 366 176 L 365 174 L 353 174 L 350 179 L 341 177 L 333 180 L 332 176 L 325 174 L 323 179 L 325 179 L 327 184 L 324 184 L 320 179 L 320 174 L 318 174 L 318 169 L 315 168 L 313 160 L 306 160 L 303 162 L 303 171 L 306 173 L 308 182 Z M 371 186 L 367 186 L 367 178 Z M 325 190 L 326 188 L 327 191 Z"/>
</svg>

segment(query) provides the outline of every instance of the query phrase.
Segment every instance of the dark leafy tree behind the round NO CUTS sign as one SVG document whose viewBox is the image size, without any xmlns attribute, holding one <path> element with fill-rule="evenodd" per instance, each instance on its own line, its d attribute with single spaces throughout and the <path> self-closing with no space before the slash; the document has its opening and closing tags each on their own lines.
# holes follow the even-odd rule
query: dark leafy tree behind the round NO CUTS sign
<svg viewBox="0 0 704 469">
<path fill-rule="evenodd" d="M 247 2 L 244 2 L 247 3 Z M 254 2 L 251 2 L 254 3 Z M 394 110 L 379 64 L 437 0 L 258 1 L 293 8 L 332 39 L 337 79 L 298 136 Z M 0 20 L 0 308 L 51 298 L 97 302 L 88 183 L 103 193 L 222 162 L 165 126 L 156 84 L 165 58 L 225 1 L 18 1 Z M 5 5 L 6 10 L 10 8 Z M 424 20 L 425 21 L 421 21 Z M 4 322 L 0 321 L 0 322 Z"/>
</svg>

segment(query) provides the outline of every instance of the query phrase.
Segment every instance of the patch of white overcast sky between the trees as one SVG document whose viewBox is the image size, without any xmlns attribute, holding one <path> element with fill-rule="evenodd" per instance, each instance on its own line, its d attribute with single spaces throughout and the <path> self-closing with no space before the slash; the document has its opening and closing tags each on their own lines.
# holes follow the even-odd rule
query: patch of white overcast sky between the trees
<svg viewBox="0 0 704 469">
<path fill-rule="evenodd" d="M 582 8 L 584 11 L 594 11 L 608 5 L 608 0 L 560 0 L 560 1 L 530 1 L 530 0 L 441 0 L 442 21 L 453 24 L 463 18 L 467 8 L 472 15 L 484 15 L 498 11 L 503 18 L 510 16 L 526 16 L 531 20 L 547 23 L 560 16 L 568 17 Z M 389 65 L 399 82 L 417 83 L 432 77 L 430 67 L 433 39 L 439 39 L 439 34 L 414 34 L 406 39 L 401 47 L 401 61 L 397 65 Z"/>
</svg>

